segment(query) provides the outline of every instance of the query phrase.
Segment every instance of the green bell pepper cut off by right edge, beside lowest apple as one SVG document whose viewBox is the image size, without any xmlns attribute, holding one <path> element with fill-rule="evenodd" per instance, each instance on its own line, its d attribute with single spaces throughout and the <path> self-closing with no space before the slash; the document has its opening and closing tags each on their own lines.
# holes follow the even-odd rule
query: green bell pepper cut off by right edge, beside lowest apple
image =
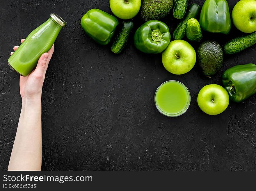
<svg viewBox="0 0 256 191">
<path fill-rule="evenodd" d="M 230 99 L 241 102 L 256 93 L 256 65 L 233 66 L 223 73 L 222 82 Z"/>
</svg>

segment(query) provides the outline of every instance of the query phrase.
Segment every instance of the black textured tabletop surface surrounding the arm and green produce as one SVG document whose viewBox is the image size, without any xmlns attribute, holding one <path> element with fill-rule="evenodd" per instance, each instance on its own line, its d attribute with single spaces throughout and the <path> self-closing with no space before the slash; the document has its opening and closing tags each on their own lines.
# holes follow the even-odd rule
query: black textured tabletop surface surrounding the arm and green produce
<svg viewBox="0 0 256 191">
<path fill-rule="evenodd" d="M 51 12 L 67 26 L 55 42 L 43 87 L 43 170 L 256 170 L 256 96 L 230 103 L 217 116 L 203 113 L 196 101 L 204 85 L 221 84 L 225 69 L 255 63 L 255 45 L 225 56 L 211 79 L 197 64 L 177 76 L 164 69 L 161 54 L 141 53 L 132 40 L 115 55 L 111 45 L 100 46 L 83 32 L 82 15 L 92 8 L 111 13 L 108 0 L 0 2 L 1 170 L 8 167 L 21 109 L 19 76 L 7 59 Z M 228 0 L 230 12 L 236 2 Z M 135 28 L 142 24 L 134 21 Z M 163 21 L 173 33 L 177 21 L 171 15 Z M 241 34 L 232 26 L 230 35 L 204 36 L 223 44 Z M 191 93 L 188 111 L 177 118 L 161 115 L 154 105 L 155 90 L 167 80 L 181 81 Z"/>
</svg>

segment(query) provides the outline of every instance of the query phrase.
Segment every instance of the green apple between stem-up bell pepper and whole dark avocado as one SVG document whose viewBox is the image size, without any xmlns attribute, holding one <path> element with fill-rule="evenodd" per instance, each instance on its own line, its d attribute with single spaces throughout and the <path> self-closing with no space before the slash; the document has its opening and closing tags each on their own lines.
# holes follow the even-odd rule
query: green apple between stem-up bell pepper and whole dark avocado
<svg viewBox="0 0 256 191">
<path fill-rule="evenodd" d="M 195 65 L 195 49 L 184 40 L 174 40 L 162 53 L 165 69 L 173 74 L 185 74 Z"/>
</svg>

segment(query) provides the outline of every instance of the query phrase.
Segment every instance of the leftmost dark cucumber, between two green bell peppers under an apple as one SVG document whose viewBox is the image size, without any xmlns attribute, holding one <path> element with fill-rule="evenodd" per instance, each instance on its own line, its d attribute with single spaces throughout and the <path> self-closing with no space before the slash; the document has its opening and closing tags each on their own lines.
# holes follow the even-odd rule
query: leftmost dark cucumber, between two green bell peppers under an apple
<svg viewBox="0 0 256 191">
<path fill-rule="evenodd" d="M 113 53 L 120 53 L 122 49 L 125 47 L 125 44 L 129 38 L 129 34 L 131 33 L 131 29 L 133 28 L 133 22 L 132 21 L 123 21 L 122 22 L 122 28 L 120 33 L 116 36 L 111 51 Z"/>
</svg>

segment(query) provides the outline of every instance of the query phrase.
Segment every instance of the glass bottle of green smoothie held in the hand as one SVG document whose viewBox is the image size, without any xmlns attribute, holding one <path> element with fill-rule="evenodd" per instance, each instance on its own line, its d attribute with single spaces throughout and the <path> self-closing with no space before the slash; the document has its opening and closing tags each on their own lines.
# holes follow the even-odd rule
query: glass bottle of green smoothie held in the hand
<svg viewBox="0 0 256 191">
<path fill-rule="evenodd" d="M 36 67 L 40 56 L 48 52 L 66 22 L 51 13 L 50 18 L 33 30 L 8 59 L 8 65 L 18 74 L 27 76 Z"/>
</svg>

